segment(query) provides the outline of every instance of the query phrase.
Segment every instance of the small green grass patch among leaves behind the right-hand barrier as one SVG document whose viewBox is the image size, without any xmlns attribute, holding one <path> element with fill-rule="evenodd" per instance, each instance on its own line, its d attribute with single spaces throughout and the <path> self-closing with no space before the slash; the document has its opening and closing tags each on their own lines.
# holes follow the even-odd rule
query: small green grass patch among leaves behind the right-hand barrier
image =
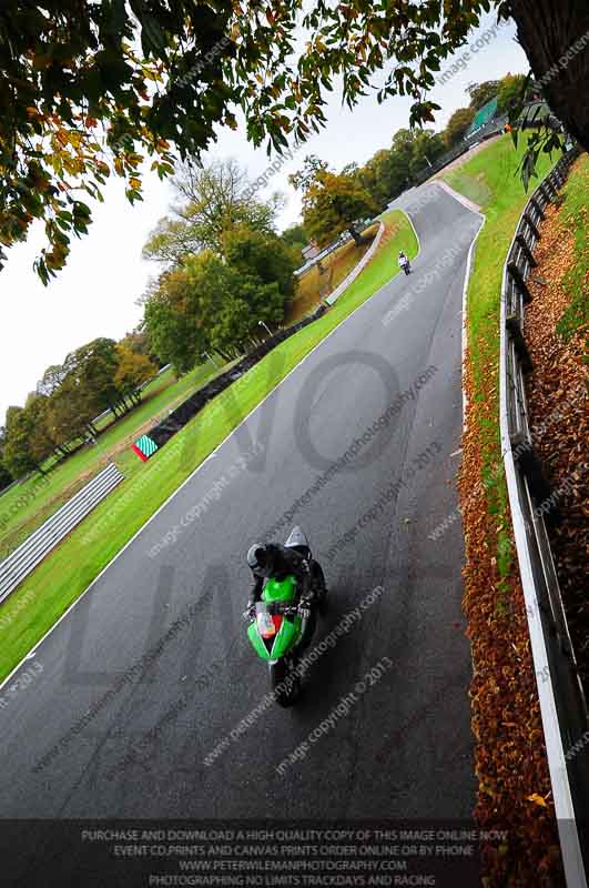
<svg viewBox="0 0 589 888">
<path fill-rule="evenodd" d="M 565 203 L 560 212 L 560 224 L 575 240 L 575 262 L 566 273 L 562 286 L 570 304 L 557 324 L 557 333 L 570 340 L 589 324 L 589 157 L 583 154 L 575 164 L 567 184 L 562 189 Z"/>
</svg>

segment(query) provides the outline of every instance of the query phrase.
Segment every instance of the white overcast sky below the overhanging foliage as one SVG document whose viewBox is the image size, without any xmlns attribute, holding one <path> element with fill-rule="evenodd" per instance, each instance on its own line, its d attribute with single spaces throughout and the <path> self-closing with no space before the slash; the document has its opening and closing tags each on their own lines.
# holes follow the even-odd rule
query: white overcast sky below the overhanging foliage
<svg viewBox="0 0 589 888">
<path fill-rule="evenodd" d="M 431 91 L 430 98 L 443 108 L 436 119 L 437 130 L 445 127 L 457 108 L 468 104 L 469 83 L 499 79 L 508 72 L 527 72 L 529 65 L 515 41 L 515 27 L 504 24 L 494 34 L 494 16 L 483 21 L 455 57 L 463 60 L 464 67 Z M 445 63 L 440 74 L 449 68 L 450 62 Z M 368 95 L 348 111 L 334 95 L 327 127 L 312 137 L 268 183 L 268 194 L 278 190 L 286 195 L 281 228 L 298 221 L 301 200 L 288 185 L 287 175 L 301 165 L 306 153 L 318 154 L 334 170 L 353 161 L 363 164 L 390 144 L 396 130 L 408 125 L 409 105 L 403 97 L 379 105 L 375 95 Z M 236 158 L 252 179 L 261 175 L 270 162 L 263 149 L 256 151 L 246 141 L 243 125 L 235 132 L 221 131 L 209 155 Z M 141 258 L 141 249 L 167 211 L 170 186 L 155 174 L 146 174 L 144 201 L 132 208 L 121 180 L 113 180 L 104 198 L 103 204 L 93 206 L 90 233 L 74 241 L 68 266 L 48 287 L 32 271 L 43 243 L 41 226 L 33 230 L 26 244 L 10 250 L 9 261 L 0 272 L 0 425 L 7 407 L 23 404 L 50 364 L 61 363 L 68 352 L 97 336 L 121 339 L 141 320 L 142 310 L 135 302 L 150 274 L 156 271 L 153 263 Z"/>
</svg>

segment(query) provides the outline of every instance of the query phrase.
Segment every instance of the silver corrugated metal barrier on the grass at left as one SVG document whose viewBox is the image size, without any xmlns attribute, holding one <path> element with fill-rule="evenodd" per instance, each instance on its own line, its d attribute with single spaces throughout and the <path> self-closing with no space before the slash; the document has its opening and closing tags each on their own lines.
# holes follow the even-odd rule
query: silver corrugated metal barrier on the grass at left
<svg viewBox="0 0 589 888">
<path fill-rule="evenodd" d="M 121 481 L 123 475 L 111 463 L 0 563 L 0 603 Z"/>
</svg>

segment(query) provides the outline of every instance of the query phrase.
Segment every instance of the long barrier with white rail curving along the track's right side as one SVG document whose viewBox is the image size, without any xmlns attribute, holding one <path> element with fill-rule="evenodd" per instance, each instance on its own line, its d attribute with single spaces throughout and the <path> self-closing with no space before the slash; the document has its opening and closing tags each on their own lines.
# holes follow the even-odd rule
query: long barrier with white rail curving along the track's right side
<svg viewBox="0 0 589 888">
<path fill-rule="evenodd" d="M 527 280 L 546 205 L 563 183 L 578 149 L 558 161 L 521 215 L 507 255 L 501 292 L 500 425 L 521 585 L 536 672 L 552 796 L 567 885 L 586 888 L 589 872 L 589 719 L 550 542 L 540 506 L 549 485 L 534 451 L 525 374 Z"/>
</svg>

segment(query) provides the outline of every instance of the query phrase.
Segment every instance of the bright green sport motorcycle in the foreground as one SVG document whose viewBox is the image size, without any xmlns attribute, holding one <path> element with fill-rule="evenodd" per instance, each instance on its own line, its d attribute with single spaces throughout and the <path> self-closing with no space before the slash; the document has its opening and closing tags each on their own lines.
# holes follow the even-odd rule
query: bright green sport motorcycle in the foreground
<svg viewBox="0 0 589 888">
<path fill-rule="evenodd" d="M 258 657 L 268 664 L 276 703 L 292 706 L 302 690 L 296 666 L 315 634 L 317 612 L 322 616 L 327 613 L 327 588 L 321 565 L 312 557 L 299 527 L 293 528 L 284 545 L 296 549 L 307 562 L 309 587 L 298 589 L 294 576 L 267 578 L 247 636 Z"/>
</svg>

